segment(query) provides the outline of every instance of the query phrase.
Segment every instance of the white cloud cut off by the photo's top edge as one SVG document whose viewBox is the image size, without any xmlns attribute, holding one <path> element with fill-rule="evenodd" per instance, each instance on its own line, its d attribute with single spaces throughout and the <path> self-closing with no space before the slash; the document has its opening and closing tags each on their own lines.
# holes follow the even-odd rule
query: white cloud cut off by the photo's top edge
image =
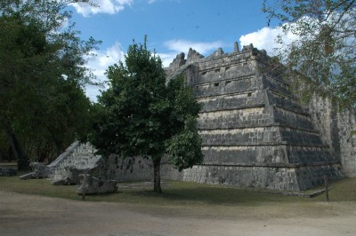
<svg viewBox="0 0 356 236">
<path fill-rule="evenodd" d="M 76 8 L 79 14 L 87 17 L 98 13 L 115 14 L 123 11 L 125 6 L 131 6 L 134 0 L 96 0 L 93 3 L 96 6 L 83 3 L 73 3 L 71 5 Z"/>
</svg>

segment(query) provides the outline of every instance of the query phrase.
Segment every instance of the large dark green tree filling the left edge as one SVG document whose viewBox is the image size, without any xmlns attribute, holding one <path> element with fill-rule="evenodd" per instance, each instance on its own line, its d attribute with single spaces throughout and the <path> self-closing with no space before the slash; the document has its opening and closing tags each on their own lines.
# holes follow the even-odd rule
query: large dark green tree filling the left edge
<svg viewBox="0 0 356 236">
<path fill-rule="evenodd" d="M 83 41 L 74 24 L 63 28 L 71 2 L 0 3 L 0 129 L 19 169 L 28 169 L 31 148 L 42 153 L 52 143 L 59 150 L 83 133 L 84 86 L 93 78 L 85 56 L 99 42 Z"/>
</svg>

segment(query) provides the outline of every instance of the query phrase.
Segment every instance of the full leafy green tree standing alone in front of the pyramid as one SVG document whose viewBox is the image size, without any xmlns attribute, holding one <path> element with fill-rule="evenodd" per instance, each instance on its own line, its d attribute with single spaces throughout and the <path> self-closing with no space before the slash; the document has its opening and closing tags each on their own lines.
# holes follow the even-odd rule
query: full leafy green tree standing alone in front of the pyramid
<svg viewBox="0 0 356 236">
<path fill-rule="evenodd" d="M 156 54 L 133 43 L 125 65 L 109 67 L 109 89 L 102 92 L 95 111 L 92 143 L 99 153 L 150 158 L 154 192 L 161 193 L 160 162 L 166 156 L 179 169 L 203 160 L 196 119 L 200 107 L 181 77 L 166 82 Z"/>
</svg>

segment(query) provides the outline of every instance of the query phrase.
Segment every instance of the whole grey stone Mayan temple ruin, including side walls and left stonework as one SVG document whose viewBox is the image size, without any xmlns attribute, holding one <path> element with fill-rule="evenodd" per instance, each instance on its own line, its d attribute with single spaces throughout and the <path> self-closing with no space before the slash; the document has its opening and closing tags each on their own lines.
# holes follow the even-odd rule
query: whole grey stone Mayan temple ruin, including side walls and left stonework
<svg viewBox="0 0 356 236">
<path fill-rule="evenodd" d="M 355 114 L 337 114 L 318 96 L 301 106 L 283 80 L 284 68 L 273 65 L 252 44 L 239 51 L 235 43 L 233 52 L 218 49 L 206 58 L 192 49 L 186 59 L 177 55 L 166 73 L 184 75 L 202 106 L 198 130 L 205 158 L 182 172 L 162 161 L 163 179 L 301 191 L 322 185 L 324 176 L 356 177 Z M 62 160 L 79 160 L 82 149 L 75 147 L 71 152 L 77 154 Z M 69 169 L 66 165 L 57 163 L 55 173 Z M 153 171 L 140 157 L 112 155 L 101 174 L 118 181 L 150 180 Z"/>
</svg>

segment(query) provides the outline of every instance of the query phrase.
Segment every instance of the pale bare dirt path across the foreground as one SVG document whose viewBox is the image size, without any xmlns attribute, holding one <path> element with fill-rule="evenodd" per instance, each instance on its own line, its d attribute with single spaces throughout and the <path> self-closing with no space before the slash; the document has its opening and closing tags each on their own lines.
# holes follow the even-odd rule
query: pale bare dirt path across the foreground
<svg viewBox="0 0 356 236">
<path fill-rule="evenodd" d="M 227 206 L 214 212 L 0 191 L 0 235 L 356 235 L 356 203 L 313 204 Z"/>
</svg>

